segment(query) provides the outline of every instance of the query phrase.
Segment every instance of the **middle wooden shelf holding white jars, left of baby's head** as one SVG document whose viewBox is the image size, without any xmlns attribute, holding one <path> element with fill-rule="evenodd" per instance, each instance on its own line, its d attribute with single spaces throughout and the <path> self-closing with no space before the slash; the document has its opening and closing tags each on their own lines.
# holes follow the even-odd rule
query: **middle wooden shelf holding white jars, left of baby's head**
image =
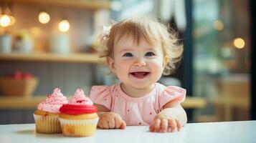
<svg viewBox="0 0 256 143">
<path fill-rule="evenodd" d="M 0 54 L 0 61 L 54 61 L 100 64 L 104 62 L 104 58 L 100 58 L 98 54 Z"/>
</svg>

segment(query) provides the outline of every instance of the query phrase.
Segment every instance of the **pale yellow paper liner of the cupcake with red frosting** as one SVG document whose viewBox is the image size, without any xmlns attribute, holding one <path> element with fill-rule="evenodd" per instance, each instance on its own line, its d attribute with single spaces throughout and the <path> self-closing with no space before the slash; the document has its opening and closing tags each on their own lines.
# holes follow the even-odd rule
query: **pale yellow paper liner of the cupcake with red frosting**
<svg viewBox="0 0 256 143">
<path fill-rule="evenodd" d="M 88 137 L 95 134 L 99 118 L 95 119 L 61 119 L 62 134 L 69 137 Z"/>
</svg>

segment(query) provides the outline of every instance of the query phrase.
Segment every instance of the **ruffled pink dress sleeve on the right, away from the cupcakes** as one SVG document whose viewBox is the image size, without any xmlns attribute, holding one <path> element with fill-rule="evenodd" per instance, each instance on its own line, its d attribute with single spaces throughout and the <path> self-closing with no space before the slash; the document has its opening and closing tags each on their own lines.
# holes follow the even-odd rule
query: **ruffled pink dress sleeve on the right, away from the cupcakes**
<svg viewBox="0 0 256 143">
<path fill-rule="evenodd" d="M 162 94 L 159 96 L 159 107 L 163 109 L 163 106 L 171 102 L 172 100 L 178 100 L 179 103 L 184 102 L 186 98 L 186 89 L 176 86 L 169 86 L 163 90 Z"/>
</svg>

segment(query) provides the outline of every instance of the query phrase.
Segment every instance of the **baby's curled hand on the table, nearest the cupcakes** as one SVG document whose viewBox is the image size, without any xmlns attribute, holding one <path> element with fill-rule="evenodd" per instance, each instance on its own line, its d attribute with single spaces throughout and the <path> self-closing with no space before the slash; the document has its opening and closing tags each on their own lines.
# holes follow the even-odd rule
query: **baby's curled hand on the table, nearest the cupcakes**
<svg viewBox="0 0 256 143">
<path fill-rule="evenodd" d="M 99 116 L 98 127 L 101 129 L 125 129 L 126 127 L 126 123 L 117 113 L 104 112 Z"/>
</svg>

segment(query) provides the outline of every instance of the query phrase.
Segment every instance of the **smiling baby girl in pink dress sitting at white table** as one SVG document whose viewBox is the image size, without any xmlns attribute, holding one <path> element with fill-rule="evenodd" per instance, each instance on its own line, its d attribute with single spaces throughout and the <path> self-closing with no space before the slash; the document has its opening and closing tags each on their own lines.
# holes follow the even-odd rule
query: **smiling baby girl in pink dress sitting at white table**
<svg viewBox="0 0 256 143">
<path fill-rule="evenodd" d="M 102 129 L 149 125 L 151 132 L 180 131 L 186 122 L 181 102 L 186 90 L 157 81 L 171 74 L 183 46 L 173 30 L 146 17 L 124 19 L 100 36 L 103 56 L 120 84 L 93 86 L 90 98 L 98 107 Z"/>
</svg>

